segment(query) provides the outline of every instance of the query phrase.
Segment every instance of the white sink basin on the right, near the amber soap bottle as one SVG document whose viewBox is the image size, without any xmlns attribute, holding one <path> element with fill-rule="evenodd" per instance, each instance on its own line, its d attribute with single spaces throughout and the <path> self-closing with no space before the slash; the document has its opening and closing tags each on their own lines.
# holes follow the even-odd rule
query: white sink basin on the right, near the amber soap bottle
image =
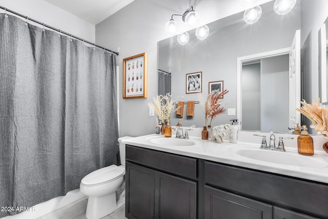
<svg viewBox="0 0 328 219">
<path fill-rule="evenodd" d="M 297 152 L 281 152 L 264 149 L 238 149 L 236 153 L 243 157 L 248 157 L 253 160 L 270 162 L 275 164 L 320 168 L 327 167 L 328 161 L 320 155 L 304 156 Z"/>
</svg>

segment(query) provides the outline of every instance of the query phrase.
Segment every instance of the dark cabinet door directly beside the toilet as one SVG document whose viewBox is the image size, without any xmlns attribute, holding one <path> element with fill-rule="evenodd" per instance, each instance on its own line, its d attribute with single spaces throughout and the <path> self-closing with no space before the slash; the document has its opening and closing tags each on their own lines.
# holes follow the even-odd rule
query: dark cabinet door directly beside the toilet
<svg viewBox="0 0 328 219">
<path fill-rule="evenodd" d="M 126 162 L 126 217 L 154 218 L 155 171 Z"/>
</svg>

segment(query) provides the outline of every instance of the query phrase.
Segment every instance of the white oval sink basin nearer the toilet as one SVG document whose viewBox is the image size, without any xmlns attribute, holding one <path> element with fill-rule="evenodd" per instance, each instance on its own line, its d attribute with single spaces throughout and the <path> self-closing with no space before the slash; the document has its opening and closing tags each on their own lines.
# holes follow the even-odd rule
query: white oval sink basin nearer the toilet
<svg viewBox="0 0 328 219">
<path fill-rule="evenodd" d="M 193 139 L 193 138 L 182 139 L 182 138 L 163 137 L 163 136 L 149 137 L 147 138 L 147 141 L 153 144 L 167 145 L 167 146 L 193 146 L 202 143 L 200 140 Z"/>
</svg>

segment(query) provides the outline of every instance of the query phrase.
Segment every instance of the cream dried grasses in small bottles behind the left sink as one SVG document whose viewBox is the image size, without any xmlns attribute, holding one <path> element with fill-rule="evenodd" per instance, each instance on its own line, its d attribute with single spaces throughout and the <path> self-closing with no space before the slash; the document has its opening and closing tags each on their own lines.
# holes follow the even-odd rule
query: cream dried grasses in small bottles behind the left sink
<svg viewBox="0 0 328 219">
<path fill-rule="evenodd" d="M 154 108 L 155 113 L 158 115 L 158 118 L 164 122 L 167 121 L 170 123 L 172 113 L 177 111 L 180 107 L 175 107 L 176 102 L 180 101 L 180 96 L 172 101 L 172 95 L 170 93 L 163 95 L 157 95 L 153 98 L 153 103 L 148 103 L 148 106 Z"/>
</svg>

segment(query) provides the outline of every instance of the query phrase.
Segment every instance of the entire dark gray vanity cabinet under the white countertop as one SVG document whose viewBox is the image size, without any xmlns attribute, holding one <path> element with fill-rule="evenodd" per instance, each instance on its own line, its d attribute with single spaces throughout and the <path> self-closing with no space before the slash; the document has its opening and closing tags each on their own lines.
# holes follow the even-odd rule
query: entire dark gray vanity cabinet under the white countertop
<svg viewBox="0 0 328 219">
<path fill-rule="evenodd" d="M 328 185 L 127 145 L 126 217 L 328 219 Z"/>
</svg>

